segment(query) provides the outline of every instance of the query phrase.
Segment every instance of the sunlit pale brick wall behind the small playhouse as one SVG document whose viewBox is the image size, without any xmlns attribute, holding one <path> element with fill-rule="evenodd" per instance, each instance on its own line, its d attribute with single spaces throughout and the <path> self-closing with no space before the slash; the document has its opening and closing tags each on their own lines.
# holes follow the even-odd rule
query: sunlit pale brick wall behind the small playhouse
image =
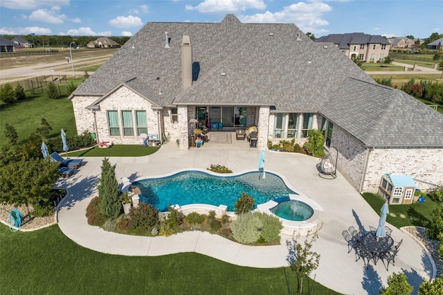
<svg viewBox="0 0 443 295">
<path fill-rule="evenodd" d="M 411 175 L 420 190 L 443 184 L 443 148 L 375 148 L 370 152 L 364 191 L 377 193 L 381 177 Z"/>
</svg>

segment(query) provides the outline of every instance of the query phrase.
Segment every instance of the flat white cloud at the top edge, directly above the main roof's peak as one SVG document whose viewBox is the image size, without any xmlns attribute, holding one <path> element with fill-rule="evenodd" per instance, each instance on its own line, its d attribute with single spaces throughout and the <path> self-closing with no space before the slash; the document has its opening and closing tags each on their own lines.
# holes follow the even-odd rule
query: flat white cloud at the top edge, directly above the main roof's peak
<svg viewBox="0 0 443 295">
<path fill-rule="evenodd" d="M 262 0 L 204 0 L 197 6 L 185 6 L 186 10 L 198 12 L 237 12 L 246 9 L 265 9 Z"/>
</svg>

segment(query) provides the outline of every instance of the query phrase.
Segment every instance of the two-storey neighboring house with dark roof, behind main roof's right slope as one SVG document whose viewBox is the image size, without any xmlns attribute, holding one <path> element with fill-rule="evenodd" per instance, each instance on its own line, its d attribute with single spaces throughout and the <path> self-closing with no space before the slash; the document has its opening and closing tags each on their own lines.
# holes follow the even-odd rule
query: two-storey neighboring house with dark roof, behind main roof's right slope
<svg viewBox="0 0 443 295">
<path fill-rule="evenodd" d="M 364 33 L 331 34 L 316 39 L 316 42 L 334 43 L 347 57 L 359 57 L 363 62 L 384 60 L 390 48 L 384 37 Z"/>
</svg>

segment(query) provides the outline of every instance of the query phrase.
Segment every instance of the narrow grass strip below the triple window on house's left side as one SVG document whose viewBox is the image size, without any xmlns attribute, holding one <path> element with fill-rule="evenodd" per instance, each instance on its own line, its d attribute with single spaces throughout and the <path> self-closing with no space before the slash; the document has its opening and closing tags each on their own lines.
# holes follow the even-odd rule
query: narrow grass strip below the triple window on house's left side
<svg viewBox="0 0 443 295">
<path fill-rule="evenodd" d="M 159 148 L 159 146 L 144 147 L 142 145 L 112 145 L 107 149 L 95 146 L 89 150 L 69 152 L 68 155 L 69 157 L 141 157 L 147 156 L 148 154 L 154 154 Z"/>
</svg>

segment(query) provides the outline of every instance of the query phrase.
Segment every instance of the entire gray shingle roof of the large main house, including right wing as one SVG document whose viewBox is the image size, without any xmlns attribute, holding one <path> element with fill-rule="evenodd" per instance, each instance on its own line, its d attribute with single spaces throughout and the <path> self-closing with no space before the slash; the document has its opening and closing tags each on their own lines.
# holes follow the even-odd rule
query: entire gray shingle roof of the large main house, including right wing
<svg viewBox="0 0 443 295">
<path fill-rule="evenodd" d="M 165 32 L 170 48 L 165 48 Z M 190 36 L 199 69 L 185 91 L 183 35 Z M 333 42 L 334 35 L 329 36 L 325 40 Z M 378 41 L 363 33 L 352 36 L 355 44 Z M 379 41 L 389 44 L 383 37 Z M 443 116 L 402 91 L 379 86 L 336 46 L 312 42 L 294 24 L 242 24 L 233 15 L 220 23 L 148 23 L 73 96 L 103 96 L 122 83 L 159 107 L 269 105 L 277 112 L 320 111 L 365 145 L 443 145 Z"/>
</svg>

